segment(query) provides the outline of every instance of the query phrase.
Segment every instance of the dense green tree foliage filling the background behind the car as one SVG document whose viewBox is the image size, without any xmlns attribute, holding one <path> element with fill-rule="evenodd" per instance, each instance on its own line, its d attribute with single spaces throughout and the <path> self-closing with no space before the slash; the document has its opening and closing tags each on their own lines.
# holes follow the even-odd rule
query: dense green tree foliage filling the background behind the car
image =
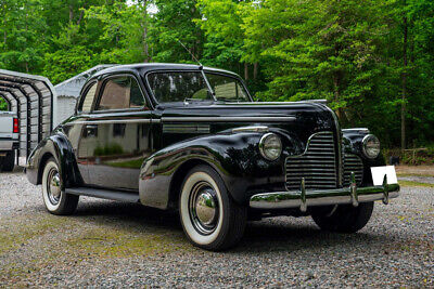
<svg viewBox="0 0 434 289">
<path fill-rule="evenodd" d="M 431 0 L 2 0 L 0 16 L 1 68 L 58 83 L 98 64 L 194 63 L 181 41 L 257 100 L 327 98 L 387 146 L 434 142 Z"/>
</svg>

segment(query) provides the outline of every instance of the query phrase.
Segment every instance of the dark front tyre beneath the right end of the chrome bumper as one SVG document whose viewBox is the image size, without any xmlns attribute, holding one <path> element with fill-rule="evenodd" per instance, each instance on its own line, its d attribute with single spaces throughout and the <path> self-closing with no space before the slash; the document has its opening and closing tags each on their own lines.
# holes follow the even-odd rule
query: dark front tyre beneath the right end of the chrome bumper
<svg viewBox="0 0 434 289">
<path fill-rule="evenodd" d="M 339 205 L 318 208 L 311 214 L 315 223 L 324 231 L 355 233 L 368 224 L 373 211 L 373 201 L 360 202 L 357 207 Z"/>
</svg>

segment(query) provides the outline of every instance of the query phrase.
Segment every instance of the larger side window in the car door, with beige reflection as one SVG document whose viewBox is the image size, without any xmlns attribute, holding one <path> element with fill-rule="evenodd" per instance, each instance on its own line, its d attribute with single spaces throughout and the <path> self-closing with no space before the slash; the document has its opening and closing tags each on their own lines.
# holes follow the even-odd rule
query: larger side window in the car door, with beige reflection
<svg viewBox="0 0 434 289">
<path fill-rule="evenodd" d="M 140 108 L 144 98 L 139 83 L 129 76 L 113 77 L 104 83 L 100 103 L 95 110 Z"/>
</svg>

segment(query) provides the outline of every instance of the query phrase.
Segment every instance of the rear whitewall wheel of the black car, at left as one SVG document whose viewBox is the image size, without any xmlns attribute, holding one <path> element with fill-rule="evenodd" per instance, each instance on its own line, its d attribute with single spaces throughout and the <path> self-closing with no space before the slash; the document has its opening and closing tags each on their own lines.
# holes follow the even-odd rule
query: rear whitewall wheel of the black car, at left
<svg viewBox="0 0 434 289">
<path fill-rule="evenodd" d="M 78 205 L 78 196 L 62 191 L 62 178 L 54 158 L 50 158 L 43 168 L 42 198 L 52 214 L 72 214 Z"/>
</svg>

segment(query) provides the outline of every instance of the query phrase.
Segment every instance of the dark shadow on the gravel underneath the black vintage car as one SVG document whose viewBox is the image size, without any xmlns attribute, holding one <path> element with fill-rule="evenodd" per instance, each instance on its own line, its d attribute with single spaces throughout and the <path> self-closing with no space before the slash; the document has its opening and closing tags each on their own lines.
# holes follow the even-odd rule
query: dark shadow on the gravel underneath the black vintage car
<svg viewBox="0 0 434 289">
<path fill-rule="evenodd" d="M 141 205 L 117 201 L 81 203 L 74 218 L 80 222 L 92 222 L 98 225 L 151 231 L 182 232 L 177 212 L 167 212 Z M 279 222 L 248 222 L 240 245 L 230 251 L 296 251 L 306 249 L 327 249 L 341 246 L 383 247 L 390 244 L 393 236 L 359 232 L 357 234 L 334 234 L 320 231 L 307 219 L 279 218 Z M 187 238 L 184 239 L 188 242 Z"/>
</svg>

